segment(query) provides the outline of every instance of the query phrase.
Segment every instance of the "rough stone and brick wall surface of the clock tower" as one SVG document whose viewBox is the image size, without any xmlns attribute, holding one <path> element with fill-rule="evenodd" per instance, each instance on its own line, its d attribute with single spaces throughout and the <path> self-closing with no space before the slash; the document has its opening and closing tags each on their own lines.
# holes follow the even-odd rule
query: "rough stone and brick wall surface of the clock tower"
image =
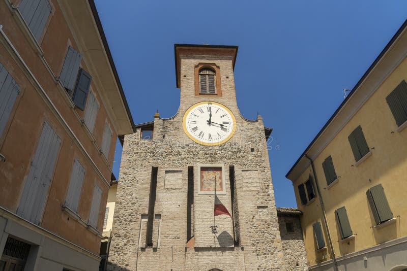
<svg viewBox="0 0 407 271">
<path fill-rule="evenodd" d="M 215 62 L 220 67 L 221 97 L 194 96 L 194 66 L 200 62 Z M 181 63 L 178 113 L 169 119 L 154 118 L 153 140 L 141 140 L 140 128 L 125 136 L 108 270 L 285 270 L 263 120 L 249 121 L 240 115 L 231 59 L 185 56 Z M 203 146 L 186 136 L 183 115 L 202 100 L 221 103 L 235 115 L 237 130 L 228 142 Z M 217 236 L 209 228 L 214 195 L 198 194 L 199 165 L 203 164 L 224 167 L 226 194 L 218 197 L 229 211 L 229 166 L 235 166 L 241 247 L 233 245 L 230 217 L 215 218 Z M 154 213 L 160 215 L 160 226 L 153 232 L 158 236 L 157 244 L 153 238 L 153 248 L 140 248 L 141 217 L 148 214 L 152 166 L 158 167 Z M 194 171 L 195 247 L 186 249 L 188 166 Z M 174 180 L 176 175 L 182 180 Z M 244 176 L 254 178 L 254 185 Z"/>
</svg>

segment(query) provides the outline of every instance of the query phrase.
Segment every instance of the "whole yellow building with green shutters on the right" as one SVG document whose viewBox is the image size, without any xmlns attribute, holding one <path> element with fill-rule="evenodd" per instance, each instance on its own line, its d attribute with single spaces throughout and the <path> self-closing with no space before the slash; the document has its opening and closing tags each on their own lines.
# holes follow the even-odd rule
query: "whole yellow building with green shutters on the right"
<svg viewBox="0 0 407 271">
<path fill-rule="evenodd" d="M 311 270 L 407 268 L 406 26 L 286 175 Z"/>
</svg>

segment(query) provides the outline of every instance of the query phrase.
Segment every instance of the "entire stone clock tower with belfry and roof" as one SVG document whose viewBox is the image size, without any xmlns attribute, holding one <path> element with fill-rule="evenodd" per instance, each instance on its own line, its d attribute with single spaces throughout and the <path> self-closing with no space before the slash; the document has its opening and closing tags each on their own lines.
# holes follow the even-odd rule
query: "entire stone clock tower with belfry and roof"
<svg viewBox="0 0 407 271">
<path fill-rule="evenodd" d="M 239 113 L 237 51 L 175 45 L 180 107 L 125 136 L 108 269 L 286 269 L 271 129 Z"/>
</svg>

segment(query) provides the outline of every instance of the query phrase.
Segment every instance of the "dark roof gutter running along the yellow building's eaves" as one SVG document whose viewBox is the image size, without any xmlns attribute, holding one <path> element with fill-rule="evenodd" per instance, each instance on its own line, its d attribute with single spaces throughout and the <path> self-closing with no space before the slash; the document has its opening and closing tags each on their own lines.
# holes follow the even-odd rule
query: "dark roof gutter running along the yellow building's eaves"
<svg viewBox="0 0 407 271">
<path fill-rule="evenodd" d="M 365 81 L 367 76 L 370 74 L 370 72 L 374 69 L 377 63 L 382 59 L 382 57 L 387 53 L 387 51 L 390 49 L 390 47 L 393 45 L 393 43 L 398 39 L 400 36 L 401 32 L 404 31 L 404 29 L 407 27 L 407 20 L 404 21 L 404 23 L 400 26 L 400 28 L 397 30 L 397 32 L 394 34 L 394 36 L 391 38 L 389 43 L 386 45 L 386 47 L 382 50 L 382 52 L 379 54 L 379 56 L 376 57 L 376 59 L 373 61 L 373 63 L 369 66 L 369 69 L 364 73 L 362 78 L 356 83 L 352 91 L 346 96 L 346 98 L 342 101 L 342 103 L 339 105 L 339 107 L 336 109 L 334 114 L 329 118 L 327 123 L 325 123 L 324 127 L 317 133 L 316 137 L 311 141 L 311 143 L 308 145 L 308 147 L 305 149 L 305 151 L 300 155 L 298 160 L 294 163 L 294 165 L 290 168 L 288 173 L 285 175 L 285 178 L 288 179 L 288 175 L 294 170 L 294 168 L 297 166 L 297 164 L 301 161 L 301 159 L 306 156 L 308 151 L 311 149 L 311 147 L 314 145 L 314 143 L 318 140 L 318 138 L 321 136 L 321 134 L 326 130 L 329 124 L 334 120 L 336 115 L 341 111 L 342 107 L 344 107 L 347 103 L 347 101 L 352 97 L 352 95 L 355 93 L 355 91 L 359 88 L 359 86 Z"/>
</svg>

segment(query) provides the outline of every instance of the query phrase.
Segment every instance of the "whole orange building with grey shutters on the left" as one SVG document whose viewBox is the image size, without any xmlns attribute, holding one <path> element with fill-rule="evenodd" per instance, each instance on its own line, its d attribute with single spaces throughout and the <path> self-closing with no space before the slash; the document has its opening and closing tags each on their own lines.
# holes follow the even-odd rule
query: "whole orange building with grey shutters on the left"
<svg viewBox="0 0 407 271">
<path fill-rule="evenodd" d="M 133 119 L 93 1 L 0 2 L 0 270 L 96 270 Z"/>
</svg>

